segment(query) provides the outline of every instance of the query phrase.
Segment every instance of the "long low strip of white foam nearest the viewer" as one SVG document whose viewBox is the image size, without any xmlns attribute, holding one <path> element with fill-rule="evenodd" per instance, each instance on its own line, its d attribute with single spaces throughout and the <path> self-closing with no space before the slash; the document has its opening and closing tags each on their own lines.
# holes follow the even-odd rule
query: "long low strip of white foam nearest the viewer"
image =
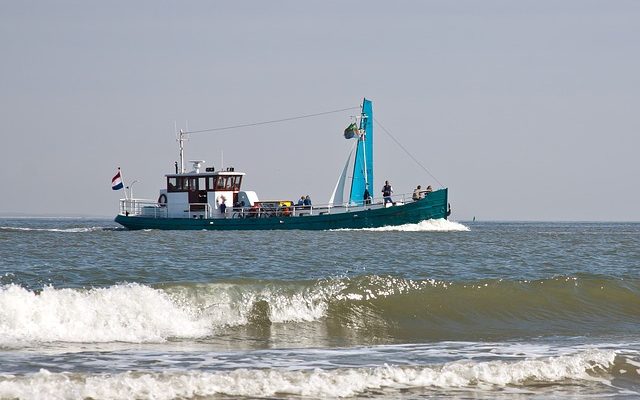
<svg viewBox="0 0 640 400">
<path fill-rule="evenodd" d="M 601 381 L 599 369 L 615 352 L 581 353 L 520 361 L 455 361 L 440 366 L 380 366 L 332 370 L 235 369 L 232 371 L 125 372 L 81 375 L 41 370 L 0 375 L 1 398 L 194 398 L 227 396 L 349 397 L 375 390 L 504 390 L 531 384 Z"/>
</svg>

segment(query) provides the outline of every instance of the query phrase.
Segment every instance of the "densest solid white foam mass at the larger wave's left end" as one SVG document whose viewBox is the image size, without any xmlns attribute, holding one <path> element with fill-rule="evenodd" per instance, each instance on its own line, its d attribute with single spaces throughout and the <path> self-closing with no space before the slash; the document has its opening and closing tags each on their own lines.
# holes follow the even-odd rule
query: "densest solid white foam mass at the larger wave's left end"
<svg viewBox="0 0 640 400">
<path fill-rule="evenodd" d="M 154 342 L 205 335 L 206 321 L 138 284 L 89 290 L 0 287 L 0 344 L 22 341 Z"/>
</svg>

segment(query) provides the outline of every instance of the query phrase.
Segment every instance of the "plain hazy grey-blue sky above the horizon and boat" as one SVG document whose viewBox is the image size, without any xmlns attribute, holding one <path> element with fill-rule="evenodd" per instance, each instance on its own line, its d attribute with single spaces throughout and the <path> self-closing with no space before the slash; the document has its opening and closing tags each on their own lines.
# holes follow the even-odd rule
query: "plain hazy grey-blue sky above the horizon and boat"
<svg viewBox="0 0 640 400">
<path fill-rule="evenodd" d="M 176 128 L 366 97 L 378 189 L 446 186 L 460 221 L 640 221 L 639 44 L 638 1 L 3 1 L 0 215 L 114 217 L 117 167 L 156 199 Z M 355 113 L 192 134 L 185 159 L 326 203 Z"/>
</svg>

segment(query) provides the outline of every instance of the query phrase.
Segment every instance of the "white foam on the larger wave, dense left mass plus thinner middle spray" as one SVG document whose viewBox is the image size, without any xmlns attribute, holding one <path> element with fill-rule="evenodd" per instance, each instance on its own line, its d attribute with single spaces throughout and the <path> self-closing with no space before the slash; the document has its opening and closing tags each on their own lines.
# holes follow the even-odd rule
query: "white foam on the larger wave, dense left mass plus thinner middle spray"
<svg viewBox="0 0 640 400">
<path fill-rule="evenodd" d="M 335 288 L 334 288 L 335 286 Z M 0 345 L 21 342 L 162 342 L 199 338 L 250 322 L 256 303 L 269 321 L 313 321 L 339 285 L 311 288 L 211 284 L 165 290 L 140 284 L 55 289 L 36 294 L 0 286 Z"/>
</svg>

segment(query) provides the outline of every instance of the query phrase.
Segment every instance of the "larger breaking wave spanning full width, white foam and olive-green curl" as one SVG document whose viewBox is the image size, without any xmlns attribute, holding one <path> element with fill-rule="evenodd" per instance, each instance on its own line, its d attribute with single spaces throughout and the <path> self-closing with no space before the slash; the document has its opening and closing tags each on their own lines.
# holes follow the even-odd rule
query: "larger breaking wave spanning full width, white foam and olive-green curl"
<svg viewBox="0 0 640 400">
<path fill-rule="evenodd" d="M 315 324 L 313 329 L 305 324 Z M 640 281 L 595 276 L 444 282 L 369 275 L 318 281 L 0 286 L 0 346 L 162 342 L 285 326 L 356 342 L 493 340 L 640 329 Z"/>
</svg>

